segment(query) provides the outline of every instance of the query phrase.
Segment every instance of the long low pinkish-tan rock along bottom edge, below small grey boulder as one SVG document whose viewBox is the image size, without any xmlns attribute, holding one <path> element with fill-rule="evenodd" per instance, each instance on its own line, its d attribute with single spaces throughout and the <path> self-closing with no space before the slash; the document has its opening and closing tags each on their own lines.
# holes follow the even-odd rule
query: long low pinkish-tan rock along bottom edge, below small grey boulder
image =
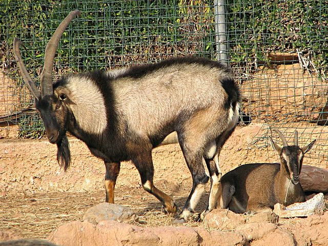
<svg viewBox="0 0 328 246">
<path fill-rule="evenodd" d="M 241 246 L 245 243 L 240 233 L 172 226 L 144 228 L 113 220 L 103 220 L 97 225 L 73 221 L 55 230 L 49 240 L 61 246 Z"/>
</svg>

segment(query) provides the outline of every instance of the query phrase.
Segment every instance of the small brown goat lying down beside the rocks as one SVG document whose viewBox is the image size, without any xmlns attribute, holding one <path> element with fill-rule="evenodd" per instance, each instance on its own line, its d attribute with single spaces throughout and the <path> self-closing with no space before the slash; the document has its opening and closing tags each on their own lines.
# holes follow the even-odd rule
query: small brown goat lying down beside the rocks
<svg viewBox="0 0 328 246">
<path fill-rule="evenodd" d="M 294 145 L 288 146 L 278 130 L 283 147 L 280 148 L 269 137 L 272 148 L 280 157 L 279 163 L 253 163 L 242 165 L 221 178 L 219 185 L 219 208 L 229 208 L 235 213 L 273 209 L 279 202 L 288 206 L 305 201 L 299 183 L 303 157 L 311 150 L 316 140 L 303 148 L 298 147 L 297 131 Z"/>
</svg>

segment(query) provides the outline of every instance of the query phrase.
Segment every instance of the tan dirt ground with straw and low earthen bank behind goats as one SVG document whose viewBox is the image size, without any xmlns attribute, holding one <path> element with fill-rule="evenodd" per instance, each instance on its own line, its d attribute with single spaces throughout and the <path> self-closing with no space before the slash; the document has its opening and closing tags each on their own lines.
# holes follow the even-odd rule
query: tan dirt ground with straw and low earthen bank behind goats
<svg viewBox="0 0 328 246">
<path fill-rule="evenodd" d="M 261 124 L 238 127 L 224 146 L 221 155 L 223 173 L 251 161 L 277 160 L 274 151 L 248 149 Z M 66 174 L 58 172 L 55 147 L 46 140 L 0 141 L 0 231 L 18 237 L 47 238 L 59 226 L 82 220 L 88 208 L 103 202 L 104 166 L 92 157 L 80 141 L 71 140 L 72 166 Z M 77 154 L 78 152 L 78 154 Z M 163 146 L 153 152 L 155 185 L 172 196 L 179 209 L 183 207 L 192 185 L 191 175 L 177 145 Z M 309 165 L 310 159 L 304 164 Z M 313 164 L 313 163 L 312 163 Z M 178 171 L 177 171 L 178 170 Z M 32 175 L 32 176 L 31 176 Z M 86 185 L 87 184 L 87 185 Z M 66 188 L 66 189 L 65 189 Z M 209 191 L 209 185 L 206 188 Z M 205 209 L 204 194 L 196 212 Z M 325 196 L 328 210 L 328 195 Z M 142 227 L 171 225 L 160 202 L 144 191 L 132 165 L 121 165 L 115 190 L 115 203 L 133 209 L 139 216 L 134 223 Z M 196 227 L 197 214 L 187 227 Z M 280 219 L 280 223 L 302 221 Z"/>
</svg>

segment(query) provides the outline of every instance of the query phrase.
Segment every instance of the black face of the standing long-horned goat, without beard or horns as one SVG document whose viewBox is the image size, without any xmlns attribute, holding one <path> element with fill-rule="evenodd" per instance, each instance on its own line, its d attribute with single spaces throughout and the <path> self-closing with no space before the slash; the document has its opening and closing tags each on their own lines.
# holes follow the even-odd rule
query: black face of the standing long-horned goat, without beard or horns
<svg viewBox="0 0 328 246">
<path fill-rule="evenodd" d="M 66 135 L 67 107 L 64 104 L 66 96 L 44 96 L 36 101 L 38 110 L 44 122 L 49 142 L 56 144 Z"/>
</svg>

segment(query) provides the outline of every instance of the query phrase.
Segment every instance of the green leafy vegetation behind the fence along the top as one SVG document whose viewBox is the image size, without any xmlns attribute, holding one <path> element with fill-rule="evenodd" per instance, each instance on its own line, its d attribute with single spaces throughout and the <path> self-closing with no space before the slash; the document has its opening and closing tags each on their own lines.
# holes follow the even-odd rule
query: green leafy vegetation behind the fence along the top
<svg viewBox="0 0 328 246">
<path fill-rule="evenodd" d="M 177 55 L 216 57 L 213 1 L 3 0 L 0 60 L 4 72 L 17 81 L 20 108 L 32 98 L 16 70 L 13 38 L 26 46 L 22 55 L 38 83 L 47 41 L 73 9 L 82 16 L 60 40 L 56 77 Z M 273 51 L 307 53 L 315 61 L 317 76 L 327 73 L 328 5 L 323 0 L 227 0 L 226 9 L 230 65 L 240 73 L 270 63 L 268 54 Z M 20 129 L 22 136 L 43 134 L 35 115 L 26 116 Z"/>
</svg>

